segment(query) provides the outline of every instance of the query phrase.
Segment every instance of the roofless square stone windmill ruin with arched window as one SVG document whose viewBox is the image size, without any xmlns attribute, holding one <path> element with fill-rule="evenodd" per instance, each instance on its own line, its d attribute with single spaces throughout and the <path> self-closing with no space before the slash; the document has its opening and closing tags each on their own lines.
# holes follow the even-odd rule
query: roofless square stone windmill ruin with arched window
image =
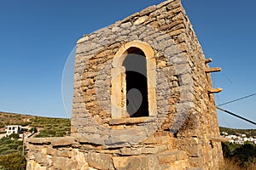
<svg viewBox="0 0 256 170">
<path fill-rule="evenodd" d="M 71 136 L 30 139 L 27 169 L 219 169 L 209 62 L 180 0 L 82 37 Z"/>
</svg>

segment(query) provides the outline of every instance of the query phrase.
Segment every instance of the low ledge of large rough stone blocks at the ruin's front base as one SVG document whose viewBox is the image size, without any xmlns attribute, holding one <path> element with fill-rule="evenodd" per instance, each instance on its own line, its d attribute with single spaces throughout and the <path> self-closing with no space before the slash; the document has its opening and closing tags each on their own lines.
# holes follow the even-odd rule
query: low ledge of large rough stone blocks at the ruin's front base
<svg viewBox="0 0 256 170">
<path fill-rule="evenodd" d="M 172 138 L 156 137 L 136 148 L 109 150 L 99 145 L 79 143 L 81 139 L 32 139 L 27 169 L 185 169 L 185 151 L 173 150 Z M 164 144 L 156 144 L 163 141 Z M 151 143 L 151 144 L 148 144 Z"/>
</svg>

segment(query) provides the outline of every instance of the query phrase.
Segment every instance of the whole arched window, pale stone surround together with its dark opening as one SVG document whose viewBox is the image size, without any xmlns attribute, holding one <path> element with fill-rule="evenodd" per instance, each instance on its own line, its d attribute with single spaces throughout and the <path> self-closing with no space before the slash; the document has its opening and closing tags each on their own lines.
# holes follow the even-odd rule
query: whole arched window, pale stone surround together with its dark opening
<svg viewBox="0 0 256 170">
<path fill-rule="evenodd" d="M 111 116 L 156 116 L 156 63 L 154 50 L 146 42 L 121 46 L 111 69 Z"/>
</svg>

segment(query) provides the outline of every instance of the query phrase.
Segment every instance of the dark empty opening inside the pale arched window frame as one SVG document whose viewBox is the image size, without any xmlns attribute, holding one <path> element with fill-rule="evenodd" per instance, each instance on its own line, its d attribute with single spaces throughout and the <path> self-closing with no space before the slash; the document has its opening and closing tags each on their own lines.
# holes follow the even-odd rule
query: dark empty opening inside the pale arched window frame
<svg viewBox="0 0 256 170">
<path fill-rule="evenodd" d="M 149 116 L 147 60 L 140 48 L 127 49 L 125 67 L 126 112 L 130 117 Z"/>
</svg>

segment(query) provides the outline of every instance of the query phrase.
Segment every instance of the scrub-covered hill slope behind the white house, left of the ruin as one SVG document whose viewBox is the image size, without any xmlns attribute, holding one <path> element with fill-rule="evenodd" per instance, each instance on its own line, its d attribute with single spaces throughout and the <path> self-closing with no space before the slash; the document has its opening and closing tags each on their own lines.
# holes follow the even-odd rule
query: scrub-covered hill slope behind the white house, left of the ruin
<svg viewBox="0 0 256 170">
<path fill-rule="evenodd" d="M 70 133 L 70 119 L 43 116 L 22 115 L 0 111 L 0 133 L 5 133 L 5 126 L 21 125 L 23 127 L 37 127 L 35 137 L 61 137 Z"/>
</svg>

